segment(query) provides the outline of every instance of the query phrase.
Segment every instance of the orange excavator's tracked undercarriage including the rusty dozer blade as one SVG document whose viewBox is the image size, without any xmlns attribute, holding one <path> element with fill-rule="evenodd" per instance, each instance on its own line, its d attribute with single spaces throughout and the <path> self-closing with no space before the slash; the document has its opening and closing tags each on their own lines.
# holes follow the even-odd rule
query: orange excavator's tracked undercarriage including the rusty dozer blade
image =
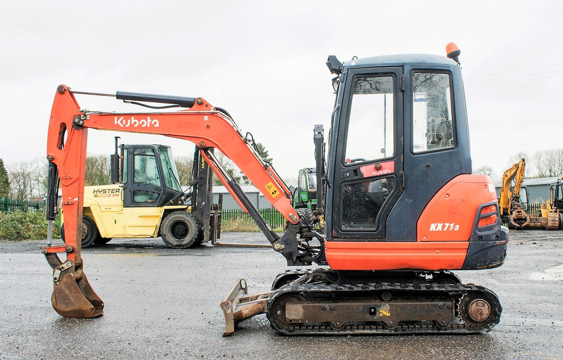
<svg viewBox="0 0 563 360">
<path fill-rule="evenodd" d="M 269 293 L 246 291 L 240 279 L 221 303 L 224 336 L 260 313 L 287 335 L 471 334 L 491 330 L 502 313 L 492 291 L 462 284 L 448 271 L 293 270 L 276 277 Z"/>
</svg>

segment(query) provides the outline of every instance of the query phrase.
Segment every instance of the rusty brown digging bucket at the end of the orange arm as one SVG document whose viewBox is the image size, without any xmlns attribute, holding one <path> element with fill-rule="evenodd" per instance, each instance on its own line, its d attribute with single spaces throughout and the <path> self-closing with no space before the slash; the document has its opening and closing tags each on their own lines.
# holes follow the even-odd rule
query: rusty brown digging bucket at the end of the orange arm
<svg viewBox="0 0 563 360">
<path fill-rule="evenodd" d="M 51 303 L 60 315 L 92 318 L 104 313 L 104 302 L 92 289 L 82 269 L 74 271 L 71 260 L 53 269 L 53 282 Z"/>
</svg>

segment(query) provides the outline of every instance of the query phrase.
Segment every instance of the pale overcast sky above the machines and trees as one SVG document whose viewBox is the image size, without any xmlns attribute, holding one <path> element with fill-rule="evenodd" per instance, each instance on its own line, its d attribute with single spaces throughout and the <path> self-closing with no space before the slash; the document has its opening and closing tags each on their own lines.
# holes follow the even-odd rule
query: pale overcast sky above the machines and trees
<svg viewBox="0 0 563 360">
<path fill-rule="evenodd" d="M 65 84 L 204 97 L 265 145 L 283 177 L 295 177 L 314 165 L 314 124 L 329 127 L 328 55 L 445 55 L 455 42 L 473 169 L 502 173 L 518 151 L 563 147 L 562 4 L 0 0 L 0 157 L 10 165 L 46 155 L 53 96 Z M 91 110 L 143 109 L 77 99 Z M 193 152 L 181 140 L 118 135 Z M 90 131 L 88 152 L 110 154 L 113 136 Z"/>
</svg>

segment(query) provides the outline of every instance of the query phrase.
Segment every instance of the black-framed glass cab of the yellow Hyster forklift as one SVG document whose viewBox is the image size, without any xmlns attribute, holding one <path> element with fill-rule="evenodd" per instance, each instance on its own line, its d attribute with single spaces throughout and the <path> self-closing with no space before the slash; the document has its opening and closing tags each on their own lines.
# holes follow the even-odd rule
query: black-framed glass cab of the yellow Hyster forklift
<svg viewBox="0 0 563 360">
<path fill-rule="evenodd" d="M 164 145 L 121 145 L 123 206 L 162 207 L 181 192 L 172 149 Z M 181 200 L 176 204 L 182 205 Z"/>
</svg>

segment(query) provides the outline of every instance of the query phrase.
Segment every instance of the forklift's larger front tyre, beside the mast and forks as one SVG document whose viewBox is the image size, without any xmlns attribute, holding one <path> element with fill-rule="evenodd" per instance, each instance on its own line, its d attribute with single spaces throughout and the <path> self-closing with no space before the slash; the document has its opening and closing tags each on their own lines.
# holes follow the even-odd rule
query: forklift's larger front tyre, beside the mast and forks
<svg viewBox="0 0 563 360">
<path fill-rule="evenodd" d="M 201 244 L 201 231 L 197 219 L 185 211 L 168 214 L 162 222 L 162 240 L 175 249 L 188 249 Z"/>
</svg>

